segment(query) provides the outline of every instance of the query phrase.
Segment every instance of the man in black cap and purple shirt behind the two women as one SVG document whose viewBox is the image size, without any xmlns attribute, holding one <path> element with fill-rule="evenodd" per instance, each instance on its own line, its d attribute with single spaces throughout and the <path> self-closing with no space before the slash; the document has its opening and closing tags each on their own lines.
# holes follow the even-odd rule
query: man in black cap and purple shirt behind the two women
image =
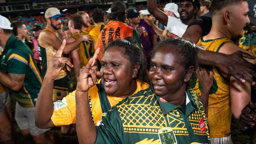
<svg viewBox="0 0 256 144">
<path fill-rule="evenodd" d="M 153 46 L 156 45 L 157 35 L 153 28 L 145 22 L 144 19 L 139 18 L 139 12 L 135 9 L 130 9 L 127 12 L 127 18 L 130 21 L 129 26 L 137 29 L 141 44 L 147 57 L 147 68 L 150 66 L 150 52 Z"/>
</svg>

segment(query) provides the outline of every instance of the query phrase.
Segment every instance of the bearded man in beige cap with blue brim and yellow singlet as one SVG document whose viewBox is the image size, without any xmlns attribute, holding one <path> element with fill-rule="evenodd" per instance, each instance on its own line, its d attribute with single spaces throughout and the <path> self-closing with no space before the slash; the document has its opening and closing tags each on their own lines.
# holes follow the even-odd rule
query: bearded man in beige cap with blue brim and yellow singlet
<svg viewBox="0 0 256 144">
<path fill-rule="evenodd" d="M 45 11 L 45 18 L 47 21 L 46 28 L 41 31 L 38 37 L 38 45 L 40 52 L 40 65 L 41 74 L 44 77 L 49 61 L 52 59 L 52 52 L 57 52 L 61 46 L 63 39 L 57 30 L 60 29 L 60 18 L 65 17 L 59 12 L 59 9 L 50 7 Z M 72 50 L 76 49 L 82 41 L 91 41 L 89 35 L 80 36 L 76 41 L 70 42 L 63 50 L 64 54 L 68 54 Z M 70 90 L 70 78 L 67 74 L 66 68 L 63 67 L 58 78 L 54 81 L 53 100 L 61 100 L 64 96 L 67 96 Z"/>
</svg>

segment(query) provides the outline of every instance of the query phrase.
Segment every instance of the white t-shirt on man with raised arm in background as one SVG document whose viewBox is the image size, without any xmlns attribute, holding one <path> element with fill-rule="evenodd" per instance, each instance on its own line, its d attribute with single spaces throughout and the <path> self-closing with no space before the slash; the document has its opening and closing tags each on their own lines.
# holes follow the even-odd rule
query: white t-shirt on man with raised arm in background
<svg viewBox="0 0 256 144">
<path fill-rule="evenodd" d="M 169 32 L 182 37 L 187 29 L 187 25 L 183 24 L 182 21 L 178 18 L 168 16 L 167 26 L 165 26 Z"/>
</svg>

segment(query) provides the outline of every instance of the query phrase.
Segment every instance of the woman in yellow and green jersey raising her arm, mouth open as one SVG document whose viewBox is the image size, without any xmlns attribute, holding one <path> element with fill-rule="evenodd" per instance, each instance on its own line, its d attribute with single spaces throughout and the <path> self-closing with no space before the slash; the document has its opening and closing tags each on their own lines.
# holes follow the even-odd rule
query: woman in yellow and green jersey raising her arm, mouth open
<svg viewBox="0 0 256 144">
<path fill-rule="evenodd" d="M 108 67 L 108 73 L 103 74 L 97 84 L 89 90 L 88 99 L 91 103 L 91 113 L 95 124 L 101 120 L 102 114 L 104 115 L 123 98 L 149 87 L 144 82 L 146 69 L 142 51 L 137 45 L 129 44 L 129 41 L 136 42 L 134 39 L 130 39 L 126 38 L 121 43 L 113 45 L 119 49 L 115 53 L 116 57 L 104 57 L 104 61 L 102 61 L 102 70 Z M 50 76 L 53 73 L 51 70 L 48 70 L 46 75 Z M 45 77 L 44 81 L 48 81 L 48 78 Z M 52 90 L 52 87 L 45 83 L 37 99 L 37 126 L 46 128 L 75 124 L 76 91 L 69 93 L 63 100 L 52 103 L 48 96 L 49 90 Z"/>
</svg>

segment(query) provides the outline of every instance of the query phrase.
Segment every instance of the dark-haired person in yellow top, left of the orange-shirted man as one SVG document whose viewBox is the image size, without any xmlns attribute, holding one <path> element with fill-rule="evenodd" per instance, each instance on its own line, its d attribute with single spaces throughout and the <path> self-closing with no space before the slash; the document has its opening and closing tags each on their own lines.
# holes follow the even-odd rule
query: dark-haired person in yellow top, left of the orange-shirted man
<svg viewBox="0 0 256 144">
<path fill-rule="evenodd" d="M 111 9 L 110 9 L 111 11 Z M 93 9 L 92 15 L 93 17 L 93 22 L 95 25 L 95 28 L 93 28 L 90 32 L 89 35 L 91 35 L 91 38 L 93 39 L 93 46 L 95 47 L 98 37 L 100 35 L 100 31 L 104 28 L 104 11 L 102 9 Z"/>
</svg>

